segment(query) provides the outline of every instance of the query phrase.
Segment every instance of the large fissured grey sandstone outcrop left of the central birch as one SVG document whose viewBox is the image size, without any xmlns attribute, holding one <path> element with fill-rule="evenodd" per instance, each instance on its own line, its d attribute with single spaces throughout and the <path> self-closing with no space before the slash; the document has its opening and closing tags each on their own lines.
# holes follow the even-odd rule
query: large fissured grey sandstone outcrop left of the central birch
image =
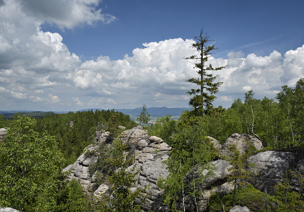
<svg viewBox="0 0 304 212">
<path fill-rule="evenodd" d="M 160 176 L 166 178 L 169 174 L 167 167 L 164 166 L 162 162 L 168 158 L 172 147 L 164 143 L 160 138 L 155 136 L 149 137 L 148 133 L 140 126 L 126 130 L 123 133 L 124 136 L 122 140 L 128 141 L 129 154 L 135 155 L 136 168 L 141 170 L 138 176 L 138 182 L 134 185 L 133 189 L 142 189 L 151 183 L 144 210 L 166 211 L 166 207 L 163 206 L 161 202 L 162 191 L 157 187 L 157 179 Z M 99 133 L 96 133 L 96 135 L 98 134 Z M 85 149 L 88 151 L 97 151 L 102 142 L 109 141 L 107 135 L 109 134 L 100 134 L 100 136 L 95 138 L 95 145 L 90 145 Z M 71 169 L 71 175 L 69 175 L 69 177 L 78 180 L 85 191 L 88 191 L 87 185 L 90 183 L 91 188 L 95 190 L 94 194 L 96 196 L 100 193 L 110 196 L 112 194 L 111 185 L 105 182 L 97 188 L 95 181 L 96 173 L 92 174 L 89 171 L 89 165 L 96 163 L 97 159 L 97 155 L 87 157 L 85 154 L 82 154 L 74 164 L 67 166 L 63 171 Z"/>
</svg>

